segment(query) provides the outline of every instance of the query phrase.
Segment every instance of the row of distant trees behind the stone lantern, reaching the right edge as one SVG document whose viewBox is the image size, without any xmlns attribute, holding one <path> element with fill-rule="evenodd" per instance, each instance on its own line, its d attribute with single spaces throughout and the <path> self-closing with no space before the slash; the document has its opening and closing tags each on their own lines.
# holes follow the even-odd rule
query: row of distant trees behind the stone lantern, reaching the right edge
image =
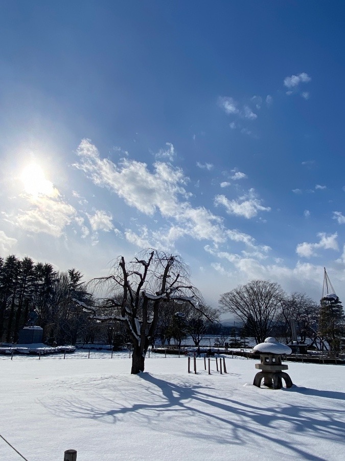
<svg viewBox="0 0 345 461">
<path fill-rule="evenodd" d="M 221 295 L 223 312 L 242 322 L 245 336 L 261 343 L 268 336 L 305 342 L 318 350 L 339 351 L 345 346 L 345 318 L 337 297 L 314 302 L 306 294 L 288 295 L 275 282 L 251 280 Z"/>
</svg>

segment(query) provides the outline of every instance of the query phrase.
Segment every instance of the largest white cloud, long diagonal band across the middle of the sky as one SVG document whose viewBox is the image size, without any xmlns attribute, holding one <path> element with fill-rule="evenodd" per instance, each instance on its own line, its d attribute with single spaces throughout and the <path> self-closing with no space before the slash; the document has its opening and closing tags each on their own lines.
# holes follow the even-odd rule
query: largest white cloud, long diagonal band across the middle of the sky
<svg viewBox="0 0 345 461">
<path fill-rule="evenodd" d="M 204 207 L 193 208 L 182 185 L 189 181 L 179 168 L 167 163 L 154 163 L 154 172 L 148 170 L 146 163 L 122 159 L 119 165 L 109 159 L 101 159 L 96 147 L 84 139 L 77 150 L 80 161 L 75 166 L 88 178 L 101 187 L 116 192 L 125 202 L 141 213 L 153 216 L 157 211 L 162 217 L 175 219 L 183 225 L 187 235 L 194 239 L 225 241 L 222 219 Z M 127 237 L 128 236 L 128 237 Z M 132 234 L 127 232 L 129 240 Z M 153 239 L 152 236 L 149 237 Z M 147 236 L 141 237 L 148 241 Z"/>
</svg>

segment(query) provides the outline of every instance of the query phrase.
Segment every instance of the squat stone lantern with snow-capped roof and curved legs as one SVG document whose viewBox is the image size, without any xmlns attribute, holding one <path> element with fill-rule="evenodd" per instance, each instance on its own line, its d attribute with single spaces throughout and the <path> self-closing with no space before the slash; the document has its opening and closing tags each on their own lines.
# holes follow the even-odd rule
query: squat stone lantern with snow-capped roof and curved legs
<svg viewBox="0 0 345 461">
<path fill-rule="evenodd" d="M 266 338 L 264 343 L 257 344 L 253 350 L 260 352 L 261 359 L 261 363 L 257 363 L 255 368 L 262 370 L 255 375 L 254 386 L 260 387 L 261 381 L 264 379 L 265 386 L 281 389 L 283 379 L 286 387 L 292 387 L 290 376 L 283 371 L 287 370 L 288 366 L 282 364 L 282 355 L 291 354 L 289 346 L 277 343 L 275 338 Z"/>
</svg>

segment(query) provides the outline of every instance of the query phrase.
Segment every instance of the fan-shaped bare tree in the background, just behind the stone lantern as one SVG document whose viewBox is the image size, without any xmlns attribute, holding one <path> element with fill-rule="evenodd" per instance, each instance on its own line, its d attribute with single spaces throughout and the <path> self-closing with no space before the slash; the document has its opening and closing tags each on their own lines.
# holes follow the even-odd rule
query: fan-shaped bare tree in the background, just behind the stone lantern
<svg viewBox="0 0 345 461">
<path fill-rule="evenodd" d="M 267 280 L 251 280 L 221 295 L 223 312 L 242 320 L 257 344 L 263 342 L 278 320 L 284 298 L 282 287 Z"/>
</svg>

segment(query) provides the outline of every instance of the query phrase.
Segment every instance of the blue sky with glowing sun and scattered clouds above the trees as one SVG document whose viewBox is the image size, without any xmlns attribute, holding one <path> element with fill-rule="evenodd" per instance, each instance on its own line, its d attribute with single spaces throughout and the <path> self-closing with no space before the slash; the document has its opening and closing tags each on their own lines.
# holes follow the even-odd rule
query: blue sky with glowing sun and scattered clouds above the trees
<svg viewBox="0 0 345 461">
<path fill-rule="evenodd" d="M 345 289 L 343 2 L 1 2 L 0 254 L 147 246 L 209 304 Z"/>
</svg>

